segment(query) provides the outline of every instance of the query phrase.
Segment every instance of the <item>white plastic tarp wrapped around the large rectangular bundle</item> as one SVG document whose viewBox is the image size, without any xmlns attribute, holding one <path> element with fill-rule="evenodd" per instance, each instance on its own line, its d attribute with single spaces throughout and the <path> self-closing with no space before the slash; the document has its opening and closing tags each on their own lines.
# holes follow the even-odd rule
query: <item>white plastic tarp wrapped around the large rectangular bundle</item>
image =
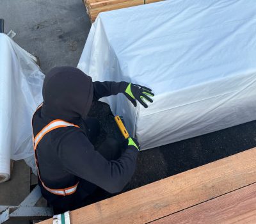
<svg viewBox="0 0 256 224">
<path fill-rule="evenodd" d="M 152 88 L 154 103 L 123 115 L 143 149 L 256 119 L 255 0 L 172 0 L 100 13 L 78 68 L 93 81 Z"/>
</svg>

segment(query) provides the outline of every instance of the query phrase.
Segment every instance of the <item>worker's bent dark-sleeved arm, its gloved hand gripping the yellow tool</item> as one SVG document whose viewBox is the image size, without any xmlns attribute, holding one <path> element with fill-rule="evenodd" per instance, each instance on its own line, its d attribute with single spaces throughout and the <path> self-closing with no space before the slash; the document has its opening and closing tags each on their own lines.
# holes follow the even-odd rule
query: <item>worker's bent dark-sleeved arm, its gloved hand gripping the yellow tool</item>
<svg viewBox="0 0 256 224">
<path fill-rule="evenodd" d="M 67 172 L 109 193 L 117 193 L 122 191 L 134 173 L 139 152 L 136 144 L 129 142 L 119 159 L 108 161 L 94 149 L 82 131 L 70 128 L 60 141 L 58 155 Z"/>
</svg>

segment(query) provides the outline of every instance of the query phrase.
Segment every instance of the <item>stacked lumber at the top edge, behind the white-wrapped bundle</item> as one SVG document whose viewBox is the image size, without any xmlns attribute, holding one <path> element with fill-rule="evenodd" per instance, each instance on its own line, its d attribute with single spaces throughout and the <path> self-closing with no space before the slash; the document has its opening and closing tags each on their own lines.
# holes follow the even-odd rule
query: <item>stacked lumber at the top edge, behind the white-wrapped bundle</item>
<svg viewBox="0 0 256 224">
<path fill-rule="evenodd" d="M 94 22 L 100 12 L 118 10 L 140 4 L 155 3 L 163 0 L 83 0 L 90 20 Z"/>
</svg>

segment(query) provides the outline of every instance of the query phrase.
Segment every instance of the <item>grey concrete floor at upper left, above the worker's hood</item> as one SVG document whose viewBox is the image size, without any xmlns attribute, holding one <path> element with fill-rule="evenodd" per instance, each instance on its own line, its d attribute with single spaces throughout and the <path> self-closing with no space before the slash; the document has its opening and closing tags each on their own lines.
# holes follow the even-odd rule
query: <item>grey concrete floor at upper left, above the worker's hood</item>
<svg viewBox="0 0 256 224">
<path fill-rule="evenodd" d="M 90 20 L 82 0 L 1 0 L 4 30 L 13 29 L 20 47 L 40 58 L 44 73 L 52 67 L 76 67 Z"/>
</svg>

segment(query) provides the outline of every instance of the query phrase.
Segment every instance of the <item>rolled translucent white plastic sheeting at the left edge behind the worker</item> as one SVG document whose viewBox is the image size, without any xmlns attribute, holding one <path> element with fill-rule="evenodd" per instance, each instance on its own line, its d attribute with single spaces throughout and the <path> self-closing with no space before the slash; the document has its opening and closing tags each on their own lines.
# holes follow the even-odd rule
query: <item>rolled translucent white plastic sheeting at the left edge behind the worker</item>
<svg viewBox="0 0 256 224">
<path fill-rule="evenodd" d="M 29 53 L 0 33 L 0 182 L 10 178 L 10 159 L 33 158 L 31 117 L 43 81 Z"/>
</svg>

